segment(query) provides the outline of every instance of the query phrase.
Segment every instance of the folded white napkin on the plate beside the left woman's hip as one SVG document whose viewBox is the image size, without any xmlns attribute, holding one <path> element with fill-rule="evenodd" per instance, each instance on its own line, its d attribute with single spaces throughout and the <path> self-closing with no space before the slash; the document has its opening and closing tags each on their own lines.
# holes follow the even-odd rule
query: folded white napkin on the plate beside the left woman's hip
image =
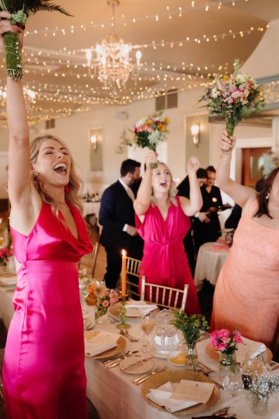
<svg viewBox="0 0 279 419">
<path fill-rule="evenodd" d="M 95 356 L 117 346 L 119 335 L 109 332 L 96 332 L 96 335 L 84 341 L 85 355 Z"/>
</svg>

